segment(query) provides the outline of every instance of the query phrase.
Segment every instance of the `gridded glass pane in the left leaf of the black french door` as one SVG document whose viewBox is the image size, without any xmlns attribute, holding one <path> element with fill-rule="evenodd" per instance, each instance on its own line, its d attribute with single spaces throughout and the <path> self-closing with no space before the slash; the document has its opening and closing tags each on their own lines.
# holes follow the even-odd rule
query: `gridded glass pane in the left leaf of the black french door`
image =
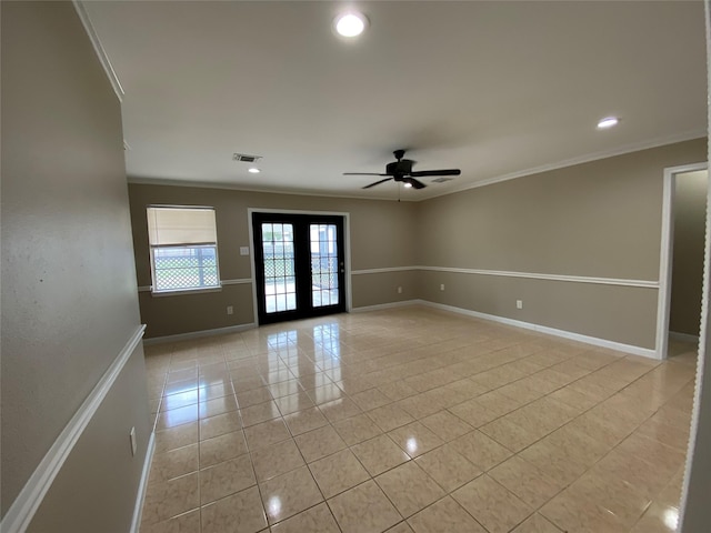
<svg viewBox="0 0 711 533">
<path fill-rule="evenodd" d="M 293 225 L 262 223 L 264 302 L 268 313 L 297 309 L 293 269 Z"/>
</svg>

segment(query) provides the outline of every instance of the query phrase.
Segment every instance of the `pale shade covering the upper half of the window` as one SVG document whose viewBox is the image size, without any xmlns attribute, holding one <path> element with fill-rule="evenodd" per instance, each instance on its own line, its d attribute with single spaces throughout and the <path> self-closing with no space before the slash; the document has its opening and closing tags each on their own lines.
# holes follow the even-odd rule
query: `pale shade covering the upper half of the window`
<svg viewBox="0 0 711 533">
<path fill-rule="evenodd" d="M 214 209 L 148 208 L 151 247 L 216 243 Z"/>
</svg>

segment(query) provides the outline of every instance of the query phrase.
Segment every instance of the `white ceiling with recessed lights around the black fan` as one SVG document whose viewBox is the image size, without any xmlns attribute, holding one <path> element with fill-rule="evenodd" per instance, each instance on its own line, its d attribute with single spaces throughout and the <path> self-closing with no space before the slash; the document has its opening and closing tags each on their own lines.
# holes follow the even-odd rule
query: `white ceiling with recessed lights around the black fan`
<svg viewBox="0 0 711 533">
<path fill-rule="evenodd" d="M 356 41 L 332 31 L 346 6 L 370 20 Z M 83 7 L 126 91 L 136 182 L 395 198 L 342 173 L 404 148 L 414 170 L 462 170 L 400 192 L 422 200 L 707 131 L 701 1 Z"/>
</svg>

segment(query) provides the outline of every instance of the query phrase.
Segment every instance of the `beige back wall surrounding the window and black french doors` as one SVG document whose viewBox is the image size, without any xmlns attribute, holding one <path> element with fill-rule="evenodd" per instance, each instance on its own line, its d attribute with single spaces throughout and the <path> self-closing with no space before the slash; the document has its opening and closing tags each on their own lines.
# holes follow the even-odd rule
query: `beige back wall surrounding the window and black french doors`
<svg viewBox="0 0 711 533">
<path fill-rule="evenodd" d="M 239 254 L 240 247 L 251 248 L 250 208 L 349 213 L 352 270 L 414 264 L 417 208 L 412 203 L 137 183 L 129 185 L 129 195 L 138 284 L 141 286 L 151 284 L 146 222 L 146 207 L 149 204 L 216 208 L 222 280 L 252 276 L 251 255 Z M 363 306 L 390 303 L 405 296 L 412 299 L 412 272 L 353 275 L 352 303 Z M 403 286 L 402 294 L 397 293 L 398 285 Z M 153 296 L 150 292 L 141 292 L 140 305 L 141 320 L 148 325 L 147 338 L 239 326 L 257 320 L 251 284 L 224 285 L 220 292 L 213 293 L 171 296 Z M 233 305 L 234 314 L 227 314 L 227 305 Z"/>
</svg>

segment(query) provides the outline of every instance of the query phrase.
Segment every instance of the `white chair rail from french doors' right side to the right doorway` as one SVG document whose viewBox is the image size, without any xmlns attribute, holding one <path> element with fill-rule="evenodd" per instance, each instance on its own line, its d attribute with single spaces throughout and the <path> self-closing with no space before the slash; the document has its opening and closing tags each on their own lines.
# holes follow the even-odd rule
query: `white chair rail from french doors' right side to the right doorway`
<svg viewBox="0 0 711 533">
<path fill-rule="evenodd" d="M 353 270 L 351 274 L 382 274 L 387 272 L 403 272 L 409 270 L 424 270 L 430 272 L 452 272 L 457 274 L 498 275 L 502 278 L 525 278 L 530 280 L 564 281 L 570 283 L 593 283 L 598 285 L 641 286 L 644 289 L 659 289 L 659 282 L 654 280 L 627 280 L 621 278 L 598 278 L 592 275 L 543 274 L 540 272 L 515 272 L 508 270 L 485 269 L 459 269 L 453 266 L 390 266 L 383 269 Z"/>
</svg>

